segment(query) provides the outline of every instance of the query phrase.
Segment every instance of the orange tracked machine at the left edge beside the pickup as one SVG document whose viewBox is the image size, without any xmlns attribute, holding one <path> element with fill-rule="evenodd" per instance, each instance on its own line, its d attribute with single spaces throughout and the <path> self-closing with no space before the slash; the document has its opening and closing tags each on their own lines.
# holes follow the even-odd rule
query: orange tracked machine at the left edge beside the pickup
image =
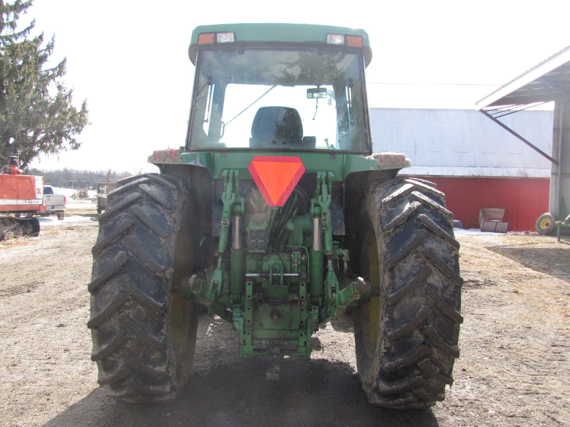
<svg viewBox="0 0 570 427">
<path fill-rule="evenodd" d="M 46 212 L 43 200 L 43 176 L 24 175 L 18 157 L 0 169 L 0 240 L 18 236 L 38 236 L 39 220 L 30 216 Z M 16 216 L 9 215 L 13 213 Z"/>
</svg>

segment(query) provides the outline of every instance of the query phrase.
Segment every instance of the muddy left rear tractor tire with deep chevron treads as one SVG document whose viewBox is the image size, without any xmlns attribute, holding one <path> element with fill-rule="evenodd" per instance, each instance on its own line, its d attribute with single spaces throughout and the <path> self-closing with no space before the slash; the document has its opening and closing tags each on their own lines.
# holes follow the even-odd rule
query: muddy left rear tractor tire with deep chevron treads
<svg viewBox="0 0 570 427">
<path fill-rule="evenodd" d="M 196 346 L 198 310 L 172 291 L 193 273 L 190 196 L 169 175 L 117 184 L 92 249 L 91 360 L 108 396 L 168 401 L 184 388 Z"/>
</svg>

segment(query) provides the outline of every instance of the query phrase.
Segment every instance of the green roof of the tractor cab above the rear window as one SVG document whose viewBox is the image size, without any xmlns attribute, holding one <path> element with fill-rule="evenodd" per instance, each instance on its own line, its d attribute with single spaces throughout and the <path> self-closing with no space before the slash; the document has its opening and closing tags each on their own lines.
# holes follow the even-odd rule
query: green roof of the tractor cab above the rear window
<svg viewBox="0 0 570 427">
<path fill-rule="evenodd" d="M 327 34 L 361 36 L 364 64 L 368 67 L 372 60 L 372 50 L 368 33 L 359 28 L 336 27 L 315 24 L 284 23 L 241 23 L 201 25 L 194 28 L 188 56 L 194 65 L 198 54 L 198 34 L 203 32 L 234 32 L 235 42 L 290 42 L 290 43 L 325 43 Z"/>
</svg>

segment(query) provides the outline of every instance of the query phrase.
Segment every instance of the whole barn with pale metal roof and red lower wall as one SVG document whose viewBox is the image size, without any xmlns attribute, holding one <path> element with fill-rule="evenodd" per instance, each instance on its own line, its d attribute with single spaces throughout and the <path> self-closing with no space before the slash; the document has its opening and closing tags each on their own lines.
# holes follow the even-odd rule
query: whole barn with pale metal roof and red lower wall
<svg viewBox="0 0 570 427">
<path fill-rule="evenodd" d="M 552 151 L 552 111 L 520 111 L 502 121 Z M 468 228 L 491 207 L 506 210 L 509 230 L 530 230 L 548 208 L 551 163 L 476 110 L 372 108 L 370 122 L 374 151 L 404 153 L 412 167 L 401 174 L 437 183 Z"/>
</svg>

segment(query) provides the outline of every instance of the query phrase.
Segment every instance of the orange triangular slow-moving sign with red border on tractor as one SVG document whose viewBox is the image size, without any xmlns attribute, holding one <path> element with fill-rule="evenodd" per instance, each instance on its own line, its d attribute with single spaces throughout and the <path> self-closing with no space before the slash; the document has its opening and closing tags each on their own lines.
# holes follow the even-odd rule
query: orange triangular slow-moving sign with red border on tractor
<svg viewBox="0 0 570 427">
<path fill-rule="evenodd" d="M 298 156 L 256 155 L 250 171 L 267 206 L 283 206 L 305 172 Z"/>
</svg>

